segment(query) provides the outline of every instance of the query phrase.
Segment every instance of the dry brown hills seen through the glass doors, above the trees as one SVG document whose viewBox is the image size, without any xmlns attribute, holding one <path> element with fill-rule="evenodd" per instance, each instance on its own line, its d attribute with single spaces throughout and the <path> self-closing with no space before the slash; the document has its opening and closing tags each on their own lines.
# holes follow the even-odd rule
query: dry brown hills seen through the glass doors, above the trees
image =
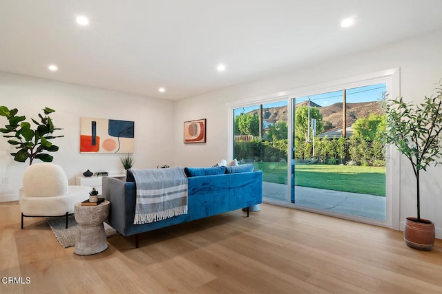
<svg viewBox="0 0 442 294">
<path fill-rule="evenodd" d="M 296 107 L 307 105 L 307 101 L 296 104 Z M 320 106 L 310 101 L 310 107 L 317 107 L 323 116 L 323 122 L 329 122 L 331 127 L 340 127 L 343 123 L 343 103 L 334 103 L 329 106 Z M 252 110 L 249 114 L 258 115 L 259 110 Z M 262 109 L 262 116 L 268 123 L 276 123 L 279 120 L 287 121 L 287 107 L 271 107 Z M 381 104 L 377 101 L 347 103 L 347 124 L 354 123 L 358 118 L 368 117 L 370 114 L 383 114 Z"/>
</svg>

